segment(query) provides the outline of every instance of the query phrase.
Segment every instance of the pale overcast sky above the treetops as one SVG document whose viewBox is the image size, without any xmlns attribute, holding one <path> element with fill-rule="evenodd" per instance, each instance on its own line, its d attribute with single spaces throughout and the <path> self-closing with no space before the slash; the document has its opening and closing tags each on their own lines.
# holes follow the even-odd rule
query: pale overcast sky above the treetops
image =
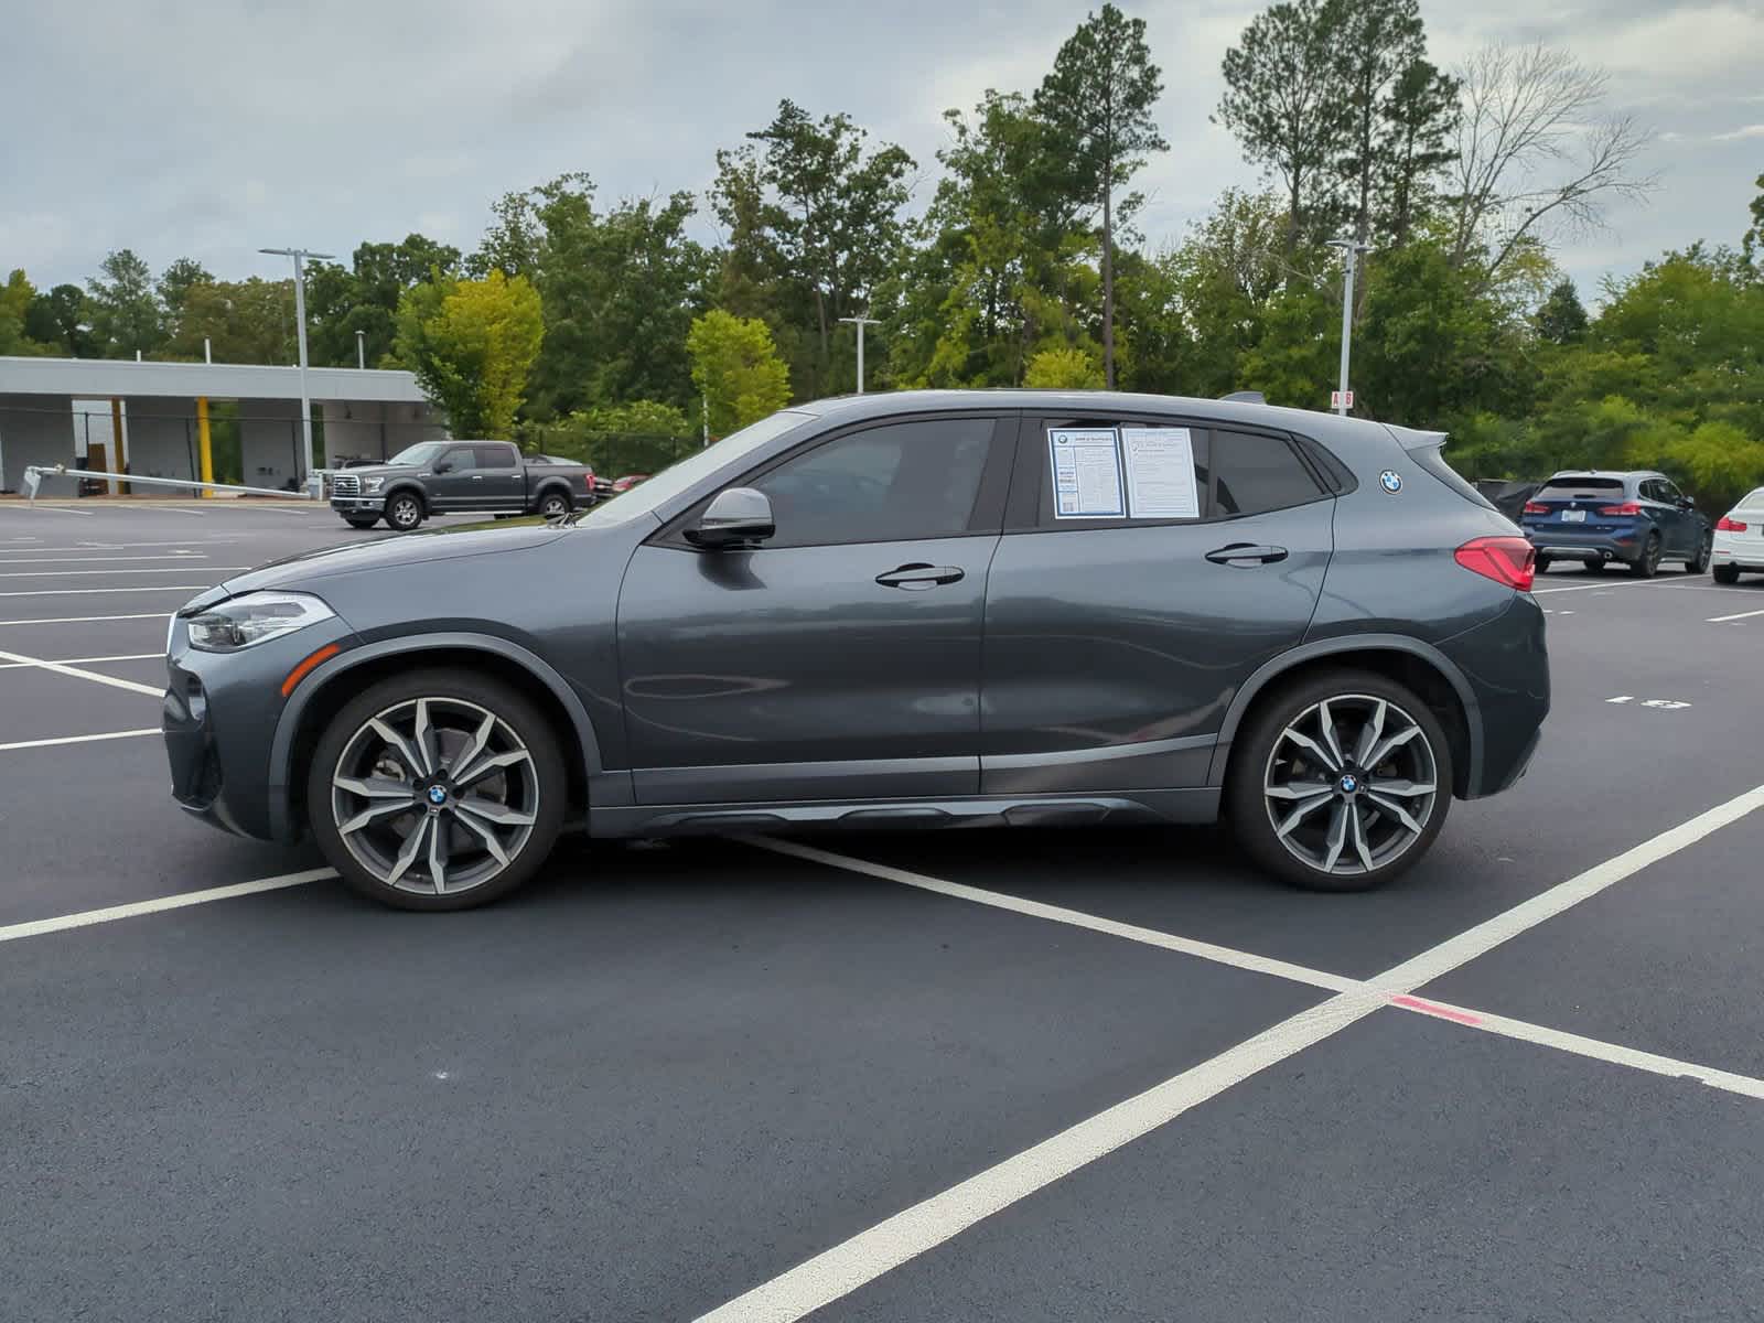
<svg viewBox="0 0 1764 1323">
<path fill-rule="evenodd" d="M 489 203 L 572 169 L 610 201 L 693 189 L 718 146 L 780 97 L 843 109 L 935 185 L 940 113 L 988 86 L 1028 92 L 1083 0 L 16 0 L 4 21 L 0 272 L 83 282 L 109 249 L 161 270 L 282 275 L 258 247 L 348 254 L 413 229 L 462 249 Z M 1141 228 L 1182 231 L 1221 189 L 1254 183 L 1207 122 L 1219 60 L 1259 9 L 1124 0 L 1148 25 L 1171 152 L 1141 176 Z M 1600 277 L 1695 238 L 1738 242 L 1764 173 L 1764 0 L 1422 0 L 1431 55 L 1549 41 L 1611 72 L 1611 109 L 1658 138 L 1663 187 L 1605 233 L 1565 243 Z M 700 235 L 713 238 L 709 217 Z"/>
</svg>

